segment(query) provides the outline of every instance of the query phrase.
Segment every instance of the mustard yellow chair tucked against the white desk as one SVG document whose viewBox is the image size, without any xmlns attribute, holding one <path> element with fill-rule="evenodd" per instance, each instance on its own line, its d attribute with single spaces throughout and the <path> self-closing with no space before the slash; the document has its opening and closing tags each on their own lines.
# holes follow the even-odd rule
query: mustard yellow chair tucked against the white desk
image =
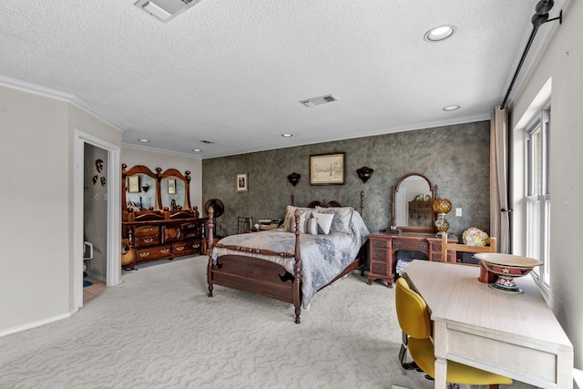
<svg viewBox="0 0 583 389">
<path fill-rule="evenodd" d="M 395 306 L 397 319 L 407 341 L 409 353 L 425 374 L 435 378 L 435 352 L 431 341 L 432 322 L 427 304 L 419 293 L 414 292 L 404 278 L 396 282 Z M 447 361 L 446 381 L 455 384 L 490 385 L 497 389 L 499 384 L 512 384 L 512 379 L 504 375 L 486 372 L 463 363 Z"/>
</svg>

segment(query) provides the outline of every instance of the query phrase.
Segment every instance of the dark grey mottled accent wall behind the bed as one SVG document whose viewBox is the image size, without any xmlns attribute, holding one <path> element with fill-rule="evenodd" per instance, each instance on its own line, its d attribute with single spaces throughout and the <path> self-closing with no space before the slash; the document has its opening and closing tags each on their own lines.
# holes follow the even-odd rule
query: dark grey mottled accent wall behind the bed
<svg viewBox="0 0 583 389">
<path fill-rule="evenodd" d="M 391 223 L 391 187 L 415 172 L 437 185 L 439 197 L 452 201 L 448 232 L 460 236 L 469 227 L 489 232 L 489 147 L 490 122 L 480 121 L 204 159 L 202 202 L 222 200 L 225 212 L 217 220 L 217 233 L 229 235 L 237 232 L 237 216 L 283 218 L 292 195 L 297 206 L 338 200 L 360 211 L 363 190 L 363 220 L 373 232 Z M 346 153 L 345 184 L 311 186 L 310 155 L 332 152 Z M 374 169 L 366 183 L 356 174 L 363 166 Z M 292 172 L 302 175 L 295 188 L 287 179 Z M 237 192 L 237 173 L 249 174 L 249 191 Z M 455 208 L 462 208 L 461 218 L 455 217 Z"/>
</svg>

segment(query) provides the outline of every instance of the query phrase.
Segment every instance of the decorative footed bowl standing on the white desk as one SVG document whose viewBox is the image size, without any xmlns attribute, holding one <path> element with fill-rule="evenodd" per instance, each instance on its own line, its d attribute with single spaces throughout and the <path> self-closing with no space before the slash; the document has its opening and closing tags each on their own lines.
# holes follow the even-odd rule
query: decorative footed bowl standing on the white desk
<svg viewBox="0 0 583 389">
<path fill-rule="evenodd" d="M 479 252 L 474 257 L 482 261 L 487 271 L 498 276 L 496 282 L 488 286 L 496 291 L 508 293 L 523 293 L 514 279 L 527 275 L 535 266 L 543 264 L 532 258 L 498 252 Z"/>
</svg>

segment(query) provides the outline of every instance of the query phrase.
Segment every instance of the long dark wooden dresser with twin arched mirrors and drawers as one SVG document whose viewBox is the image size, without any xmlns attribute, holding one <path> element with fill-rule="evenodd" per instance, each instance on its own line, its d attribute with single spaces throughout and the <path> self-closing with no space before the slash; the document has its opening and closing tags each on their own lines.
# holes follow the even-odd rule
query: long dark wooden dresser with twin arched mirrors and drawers
<svg viewBox="0 0 583 389">
<path fill-rule="evenodd" d="M 124 266 L 205 252 L 207 219 L 190 205 L 189 185 L 188 170 L 122 165 L 122 239 L 135 251 Z"/>
</svg>

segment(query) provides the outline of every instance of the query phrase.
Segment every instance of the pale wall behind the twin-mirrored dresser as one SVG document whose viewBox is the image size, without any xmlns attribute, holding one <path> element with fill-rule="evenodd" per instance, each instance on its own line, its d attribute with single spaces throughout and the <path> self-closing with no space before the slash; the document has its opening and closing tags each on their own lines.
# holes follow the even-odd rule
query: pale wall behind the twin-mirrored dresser
<svg viewBox="0 0 583 389">
<path fill-rule="evenodd" d="M 156 172 L 156 168 L 161 168 L 162 172 L 166 169 L 178 169 L 184 174 L 186 170 L 190 171 L 190 205 L 192 208 L 199 207 L 200 216 L 203 217 L 202 211 L 202 160 L 196 157 L 185 157 L 177 154 L 162 153 L 145 150 L 142 148 L 130 148 L 124 146 L 121 149 L 121 163 L 128 165 L 128 169 L 136 165 L 144 165 L 148 169 Z"/>
</svg>

